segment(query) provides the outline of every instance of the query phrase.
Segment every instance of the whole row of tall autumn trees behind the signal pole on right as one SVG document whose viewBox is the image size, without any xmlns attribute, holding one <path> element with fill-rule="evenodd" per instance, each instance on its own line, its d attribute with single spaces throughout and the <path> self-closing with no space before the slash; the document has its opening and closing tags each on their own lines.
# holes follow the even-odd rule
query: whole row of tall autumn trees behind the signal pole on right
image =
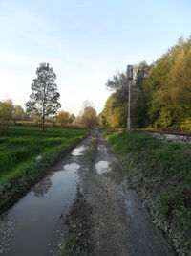
<svg viewBox="0 0 191 256">
<path fill-rule="evenodd" d="M 156 62 L 134 66 L 131 120 L 133 128 L 191 130 L 191 37 L 179 39 Z M 128 81 L 118 73 L 106 86 L 113 91 L 99 124 L 126 127 Z"/>
</svg>

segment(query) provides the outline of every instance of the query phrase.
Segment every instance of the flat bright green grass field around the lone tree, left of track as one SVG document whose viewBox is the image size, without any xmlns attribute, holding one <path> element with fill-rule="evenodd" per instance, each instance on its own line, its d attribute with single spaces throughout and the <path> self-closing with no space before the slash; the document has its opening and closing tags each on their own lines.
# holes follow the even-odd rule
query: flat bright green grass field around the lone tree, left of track
<svg viewBox="0 0 191 256">
<path fill-rule="evenodd" d="M 41 172 L 46 164 L 88 134 L 87 129 L 79 128 L 41 128 L 9 127 L 6 137 L 0 137 L 0 185 Z M 41 163 L 36 156 L 41 155 Z"/>
</svg>

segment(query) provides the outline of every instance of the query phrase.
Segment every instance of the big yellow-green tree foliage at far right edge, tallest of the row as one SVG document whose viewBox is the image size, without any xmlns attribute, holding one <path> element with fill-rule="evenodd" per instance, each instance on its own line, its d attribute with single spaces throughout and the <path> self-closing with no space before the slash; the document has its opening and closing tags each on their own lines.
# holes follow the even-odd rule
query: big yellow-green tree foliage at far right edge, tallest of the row
<svg viewBox="0 0 191 256">
<path fill-rule="evenodd" d="M 181 128 L 191 117 L 191 39 L 180 39 L 151 69 L 145 83 L 150 126 Z"/>
</svg>

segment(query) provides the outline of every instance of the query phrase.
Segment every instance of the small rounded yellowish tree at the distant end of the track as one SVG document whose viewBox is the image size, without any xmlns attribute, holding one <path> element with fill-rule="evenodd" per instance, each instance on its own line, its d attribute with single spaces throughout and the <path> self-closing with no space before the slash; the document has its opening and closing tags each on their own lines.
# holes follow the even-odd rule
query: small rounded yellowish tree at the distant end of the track
<svg viewBox="0 0 191 256">
<path fill-rule="evenodd" d="M 81 113 L 81 122 L 87 128 L 94 128 L 97 124 L 96 109 L 93 104 L 88 101 L 84 102 Z"/>
</svg>

